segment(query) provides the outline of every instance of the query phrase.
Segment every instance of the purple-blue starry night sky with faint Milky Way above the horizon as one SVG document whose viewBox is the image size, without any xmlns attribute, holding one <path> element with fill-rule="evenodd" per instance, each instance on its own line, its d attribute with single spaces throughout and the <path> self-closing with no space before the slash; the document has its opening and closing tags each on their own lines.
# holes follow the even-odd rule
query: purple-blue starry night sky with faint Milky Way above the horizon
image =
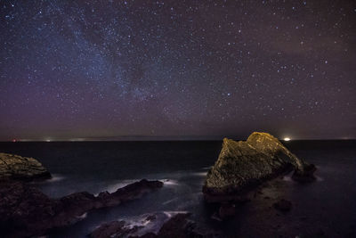
<svg viewBox="0 0 356 238">
<path fill-rule="evenodd" d="M 0 140 L 356 137 L 356 2 L 0 0 Z"/>
</svg>

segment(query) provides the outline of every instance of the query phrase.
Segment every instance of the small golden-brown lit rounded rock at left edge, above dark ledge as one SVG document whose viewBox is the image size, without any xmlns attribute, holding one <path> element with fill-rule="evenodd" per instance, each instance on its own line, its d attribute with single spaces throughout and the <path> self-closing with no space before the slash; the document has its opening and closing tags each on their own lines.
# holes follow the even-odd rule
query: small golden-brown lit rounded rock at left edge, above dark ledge
<svg viewBox="0 0 356 238">
<path fill-rule="evenodd" d="M 31 180 L 35 178 L 51 178 L 51 174 L 33 158 L 0 153 L 0 180 Z"/>
</svg>

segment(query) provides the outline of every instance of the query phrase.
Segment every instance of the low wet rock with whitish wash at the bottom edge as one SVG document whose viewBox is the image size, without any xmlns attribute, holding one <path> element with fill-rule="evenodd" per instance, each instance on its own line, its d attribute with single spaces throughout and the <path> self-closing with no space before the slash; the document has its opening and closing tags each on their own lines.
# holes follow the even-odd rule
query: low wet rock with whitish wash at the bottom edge
<svg viewBox="0 0 356 238">
<path fill-rule="evenodd" d="M 91 238 L 121 237 L 217 237 L 219 234 L 209 229 L 202 229 L 190 221 L 190 213 L 157 212 L 135 217 L 131 221 L 112 221 L 96 228 Z"/>
</svg>

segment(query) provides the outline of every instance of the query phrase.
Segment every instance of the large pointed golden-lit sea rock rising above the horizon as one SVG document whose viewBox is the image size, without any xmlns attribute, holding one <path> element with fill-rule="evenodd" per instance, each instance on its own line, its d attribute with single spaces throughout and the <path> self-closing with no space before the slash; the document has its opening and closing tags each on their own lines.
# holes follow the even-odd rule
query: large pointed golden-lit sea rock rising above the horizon
<svg viewBox="0 0 356 238">
<path fill-rule="evenodd" d="M 203 193 L 206 201 L 239 200 L 239 194 L 292 169 L 295 180 L 314 178 L 313 165 L 298 159 L 268 133 L 254 132 L 247 141 L 239 142 L 224 138 L 219 158 L 207 173 Z"/>
</svg>

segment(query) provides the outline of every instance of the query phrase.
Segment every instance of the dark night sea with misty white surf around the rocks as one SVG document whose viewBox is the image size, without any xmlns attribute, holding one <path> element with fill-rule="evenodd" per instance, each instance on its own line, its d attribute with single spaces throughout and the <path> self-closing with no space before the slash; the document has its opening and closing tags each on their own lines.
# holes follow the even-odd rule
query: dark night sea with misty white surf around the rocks
<svg viewBox="0 0 356 238">
<path fill-rule="evenodd" d="M 0 143 L 0 152 L 42 162 L 53 178 L 33 184 L 53 198 L 82 191 L 115 192 L 142 178 L 165 183 L 140 200 L 89 212 L 49 237 L 85 237 L 103 222 L 133 221 L 159 211 L 190 211 L 191 219 L 223 237 L 356 237 L 356 141 L 284 144 L 317 166 L 317 180 L 300 185 L 290 175 L 280 176 L 262 185 L 250 202 L 238 208 L 236 217 L 224 222 L 211 218 L 201 193 L 221 141 Z M 282 198 L 293 204 L 286 214 L 272 207 Z"/>
</svg>

